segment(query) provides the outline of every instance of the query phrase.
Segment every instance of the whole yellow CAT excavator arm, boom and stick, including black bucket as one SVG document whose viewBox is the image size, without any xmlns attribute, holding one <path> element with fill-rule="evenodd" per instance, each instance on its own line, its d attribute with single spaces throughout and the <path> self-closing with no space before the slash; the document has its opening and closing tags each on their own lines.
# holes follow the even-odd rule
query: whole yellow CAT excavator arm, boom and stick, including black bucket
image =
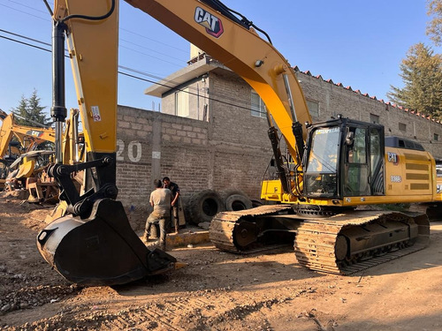
<svg viewBox="0 0 442 331">
<path fill-rule="evenodd" d="M 276 158 L 278 135 L 301 169 L 309 111 L 293 69 L 253 24 L 216 0 L 126 0 L 238 73 L 261 96 Z M 163 273 L 176 260 L 149 251 L 136 237 L 116 200 L 118 0 L 56 0 L 53 29 L 53 104 L 56 161 L 50 169 L 67 214 L 37 236 L 42 256 L 61 275 L 83 284 L 118 284 Z M 69 49 L 87 150 L 86 162 L 63 164 L 65 40 Z M 302 123 L 302 124 L 301 124 Z M 282 168 L 282 167 L 281 167 Z M 80 195 L 72 173 L 86 170 L 93 183 Z M 281 169 L 284 172 L 284 169 Z M 281 182 L 283 180 L 281 179 Z M 283 185 L 287 193 L 291 186 Z M 298 186 L 300 183 L 298 183 Z M 299 187 L 298 187 L 299 188 Z M 299 191 L 298 191 L 299 192 Z"/>
</svg>

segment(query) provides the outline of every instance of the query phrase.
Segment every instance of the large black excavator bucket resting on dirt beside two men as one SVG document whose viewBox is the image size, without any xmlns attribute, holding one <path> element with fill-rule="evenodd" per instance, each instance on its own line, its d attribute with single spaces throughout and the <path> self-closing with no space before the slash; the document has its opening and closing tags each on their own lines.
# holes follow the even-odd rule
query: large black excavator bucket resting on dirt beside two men
<svg viewBox="0 0 442 331">
<path fill-rule="evenodd" d="M 121 202 L 95 201 L 90 216 L 65 215 L 37 236 L 42 257 L 70 282 L 117 285 L 175 267 L 174 257 L 149 249 L 136 236 Z"/>
</svg>

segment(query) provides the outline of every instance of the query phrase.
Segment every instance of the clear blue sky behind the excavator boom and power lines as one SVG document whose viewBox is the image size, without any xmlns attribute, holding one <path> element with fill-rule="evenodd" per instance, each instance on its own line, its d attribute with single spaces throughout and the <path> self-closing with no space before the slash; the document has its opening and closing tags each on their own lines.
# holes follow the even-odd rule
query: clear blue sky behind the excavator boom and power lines
<svg viewBox="0 0 442 331">
<path fill-rule="evenodd" d="M 53 5 L 53 0 L 49 3 Z M 224 0 L 224 4 L 269 34 L 292 66 L 385 102 L 391 85 L 403 87 L 400 62 L 408 49 L 417 42 L 431 44 L 425 35 L 429 21 L 425 0 Z M 9 113 L 35 89 L 49 114 L 51 54 L 42 49 L 50 46 L 37 41 L 50 44 L 51 30 L 42 0 L 0 0 L 0 109 Z M 143 91 L 187 66 L 189 49 L 188 41 L 120 0 L 118 64 L 139 71 L 129 72 L 139 78 L 118 75 L 118 104 L 159 109 L 161 100 Z M 77 107 L 70 68 L 66 62 L 67 109 Z"/>
</svg>

